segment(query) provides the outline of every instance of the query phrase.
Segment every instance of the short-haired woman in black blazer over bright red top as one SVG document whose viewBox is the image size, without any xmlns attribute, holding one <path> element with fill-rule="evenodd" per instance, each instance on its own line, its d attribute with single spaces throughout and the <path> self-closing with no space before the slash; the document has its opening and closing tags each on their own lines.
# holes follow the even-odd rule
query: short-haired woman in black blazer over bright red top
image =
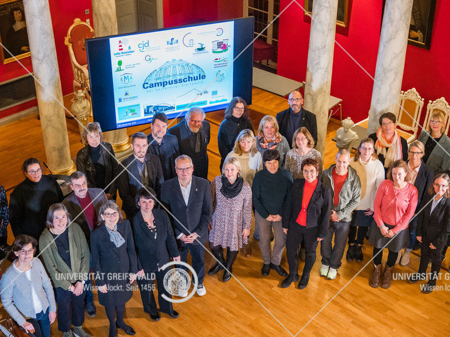
<svg viewBox="0 0 450 337">
<path fill-rule="evenodd" d="M 286 256 L 289 263 L 289 275 L 281 283 L 281 288 L 287 288 L 298 280 L 297 249 L 302 241 L 306 257 L 298 289 L 306 288 L 316 261 L 317 244 L 325 238 L 329 226 L 331 192 L 317 179 L 319 162 L 307 158 L 301 162 L 300 168 L 304 178 L 294 180 L 281 219 L 287 234 Z"/>
</svg>

